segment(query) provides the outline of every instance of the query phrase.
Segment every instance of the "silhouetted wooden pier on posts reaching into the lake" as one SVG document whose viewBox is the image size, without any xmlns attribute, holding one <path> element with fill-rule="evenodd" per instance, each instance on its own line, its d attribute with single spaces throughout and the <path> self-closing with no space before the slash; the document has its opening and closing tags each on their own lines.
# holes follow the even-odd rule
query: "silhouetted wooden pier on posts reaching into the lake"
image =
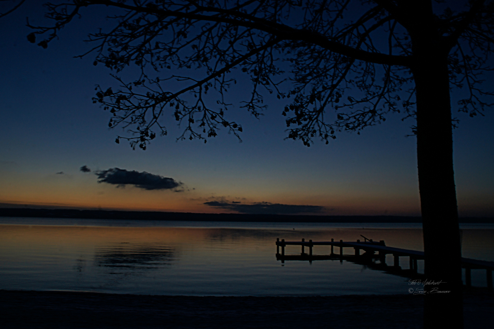
<svg viewBox="0 0 494 329">
<path fill-rule="evenodd" d="M 364 237 L 364 241 L 285 241 L 279 238 L 276 239 L 276 260 L 281 260 L 282 263 L 288 260 L 301 260 L 301 261 L 315 261 L 315 260 L 343 260 L 350 261 L 355 264 L 366 265 L 367 267 L 375 270 L 385 271 L 386 273 L 400 275 L 407 278 L 420 278 L 423 274 L 417 273 L 417 260 L 424 259 L 423 251 L 402 249 L 388 247 L 384 243 L 384 240 L 379 242 L 372 241 Z M 285 247 L 287 245 L 299 245 L 301 246 L 301 253 L 297 255 L 286 255 Z M 331 246 L 331 252 L 329 255 L 316 255 L 313 253 L 314 246 L 328 245 Z M 309 253 L 305 252 L 305 248 L 309 248 Z M 338 248 L 338 253 L 334 253 L 334 247 Z M 343 254 L 343 248 L 353 248 L 354 253 L 351 255 Z M 281 253 L 280 253 L 281 249 Z M 363 253 L 361 253 L 363 251 Z M 376 254 L 377 252 L 377 254 Z M 386 255 L 392 254 L 394 256 L 393 266 L 386 264 Z M 409 257 L 409 269 L 402 269 L 400 267 L 400 257 Z M 376 261 L 379 262 L 376 262 Z M 488 262 L 483 260 L 476 260 L 470 258 L 461 258 L 461 267 L 465 269 L 465 284 L 471 286 L 471 270 L 482 269 L 487 273 L 487 287 L 493 290 L 493 278 L 492 271 L 494 270 L 494 262 Z"/>
</svg>

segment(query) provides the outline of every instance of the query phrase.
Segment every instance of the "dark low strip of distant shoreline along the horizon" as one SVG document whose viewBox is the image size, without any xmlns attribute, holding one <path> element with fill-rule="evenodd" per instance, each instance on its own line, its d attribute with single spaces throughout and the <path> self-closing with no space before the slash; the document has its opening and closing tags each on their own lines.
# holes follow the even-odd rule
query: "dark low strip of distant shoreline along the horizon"
<svg viewBox="0 0 494 329">
<path fill-rule="evenodd" d="M 191 222 L 271 222 L 271 223 L 421 223 L 414 216 L 317 216 L 272 214 L 204 214 L 160 211 L 78 210 L 0 208 L 0 217 L 41 217 L 74 219 L 160 220 Z M 493 217 L 460 217 L 460 223 L 494 223 Z"/>
</svg>

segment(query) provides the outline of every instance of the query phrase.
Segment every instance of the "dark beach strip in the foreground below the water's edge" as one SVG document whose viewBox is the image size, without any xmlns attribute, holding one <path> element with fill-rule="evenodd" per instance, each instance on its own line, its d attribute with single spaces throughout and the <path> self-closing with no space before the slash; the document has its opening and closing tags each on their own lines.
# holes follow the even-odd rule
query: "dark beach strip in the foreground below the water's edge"
<svg viewBox="0 0 494 329">
<path fill-rule="evenodd" d="M 465 328 L 494 296 L 465 294 Z M 2 328 L 422 328 L 422 296 L 195 297 L 0 290 Z"/>
</svg>

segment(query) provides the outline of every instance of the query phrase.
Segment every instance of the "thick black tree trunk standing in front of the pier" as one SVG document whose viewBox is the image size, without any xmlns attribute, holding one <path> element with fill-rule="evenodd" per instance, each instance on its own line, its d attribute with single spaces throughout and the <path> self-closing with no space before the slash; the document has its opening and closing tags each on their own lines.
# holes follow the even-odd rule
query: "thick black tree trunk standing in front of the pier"
<svg viewBox="0 0 494 329">
<path fill-rule="evenodd" d="M 416 47 L 417 164 L 425 252 L 424 328 L 463 328 L 447 54 Z M 421 51 L 423 50 L 423 51 Z M 439 54 L 438 54 L 439 53 Z M 437 292 L 449 291 L 449 292 Z"/>
</svg>

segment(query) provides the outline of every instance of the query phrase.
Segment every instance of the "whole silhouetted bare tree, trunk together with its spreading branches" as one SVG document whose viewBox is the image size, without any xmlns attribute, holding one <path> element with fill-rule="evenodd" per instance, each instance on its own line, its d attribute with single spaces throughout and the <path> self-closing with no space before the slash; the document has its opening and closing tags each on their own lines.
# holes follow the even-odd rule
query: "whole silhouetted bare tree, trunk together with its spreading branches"
<svg viewBox="0 0 494 329">
<path fill-rule="evenodd" d="M 225 92 L 235 77 L 250 77 L 242 104 L 254 116 L 262 93 L 287 103 L 288 138 L 310 146 L 342 131 L 379 124 L 389 113 L 414 118 L 427 280 L 442 281 L 426 294 L 427 328 L 462 323 L 461 250 L 453 174 L 450 89 L 461 89 L 459 111 L 470 116 L 491 106 L 481 89 L 493 52 L 493 1 L 432 0 L 70 0 L 47 3 L 49 26 L 28 36 L 46 48 L 84 7 L 114 7 L 109 31 L 90 35 L 94 65 L 116 72 L 137 65 L 140 75 L 119 90 L 96 88 L 93 101 L 110 110 L 109 126 L 128 128 L 132 147 L 146 149 L 166 135 L 168 115 L 184 124 L 179 139 L 206 140 L 230 122 Z M 153 70 L 190 75 L 152 78 Z M 235 72 L 238 72 L 235 73 Z M 202 74 L 200 78 L 198 75 Z M 170 79 L 188 86 L 170 90 Z M 463 88 L 463 89 L 462 89 Z M 464 90 L 464 91 L 463 91 Z M 217 92 L 211 102 L 211 91 Z M 188 98 L 188 95 L 193 97 Z M 427 289 L 427 287 L 426 287 Z"/>
</svg>

